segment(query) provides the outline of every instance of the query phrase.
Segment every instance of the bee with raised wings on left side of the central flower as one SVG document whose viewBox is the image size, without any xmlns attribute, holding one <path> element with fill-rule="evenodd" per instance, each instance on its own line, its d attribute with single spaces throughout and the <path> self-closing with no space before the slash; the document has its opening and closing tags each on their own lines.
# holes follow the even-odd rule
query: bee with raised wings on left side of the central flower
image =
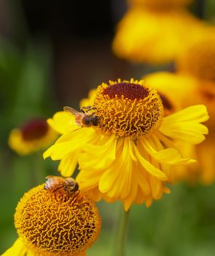
<svg viewBox="0 0 215 256">
<path fill-rule="evenodd" d="M 95 112 L 90 112 L 91 110 L 95 110 L 96 108 L 82 107 L 81 111 L 74 110 L 74 108 L 64 107 L 64 111 L 69 111 L 74 114 L 75 121 L 77 125 L 80 127 L 97 127 L 99 122 L 99 117 L 94 116 Z"/>
</svg>

